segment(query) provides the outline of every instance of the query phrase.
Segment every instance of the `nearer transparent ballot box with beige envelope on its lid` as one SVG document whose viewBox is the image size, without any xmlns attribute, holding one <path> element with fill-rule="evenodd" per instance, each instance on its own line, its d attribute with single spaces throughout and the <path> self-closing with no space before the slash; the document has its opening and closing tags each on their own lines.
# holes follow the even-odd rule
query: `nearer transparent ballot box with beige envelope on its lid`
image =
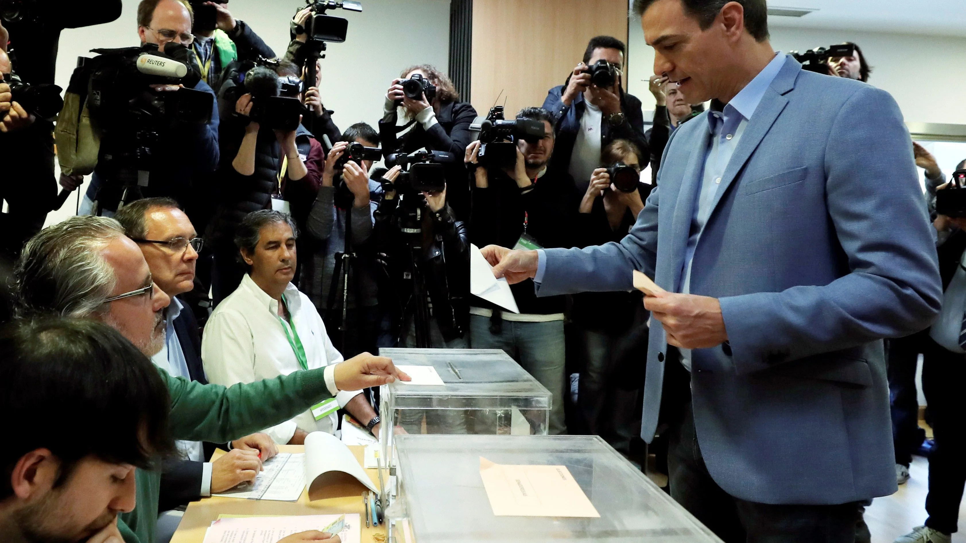
<svg viewBox="0 0 966 543">
<path fill-rule="evenodd" d="M 397 542 L 721 541 L 598 436 L 398 436 L 396 449 L 399 490 L 389 528 Z M 569 484 L 586 495 L 578 498 L 589 500 L 599 517 L 497 516 L 483 482 L 487 461 L 549 466 L 551 473 L 564 466 Z M 507 488 L 527 482 L 536 488 L 536 480 L 505 477 Z M 504 496 L 497 503 L 510 515 L 521 514 L 528 500 L 496 496 Z"/>
</svg>

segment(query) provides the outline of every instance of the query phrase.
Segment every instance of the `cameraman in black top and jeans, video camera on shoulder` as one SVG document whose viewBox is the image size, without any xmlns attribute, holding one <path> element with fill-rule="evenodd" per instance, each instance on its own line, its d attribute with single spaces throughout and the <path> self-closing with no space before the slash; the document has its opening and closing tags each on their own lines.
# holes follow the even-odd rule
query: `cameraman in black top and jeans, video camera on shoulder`
<svg viewBox="0 0 966 543">
<path fill-rule="evenodd" d="M 501 118 L 502 107 L 494 107 L 464 157 L 473 180 L 470 241 L 478 247 L 573 246 L 574 180 L 566 164 L 552 159 L 554 116 L 525 107 L 515 121 Z M 563 434 L 564 297 L 538 299 L 528 280 L 510 289 L 519 314 L 480 298 L 470 301 L 470 346 L 502 349 L 546 386 L 554 394 L 550 433 Z"/>
</svg>

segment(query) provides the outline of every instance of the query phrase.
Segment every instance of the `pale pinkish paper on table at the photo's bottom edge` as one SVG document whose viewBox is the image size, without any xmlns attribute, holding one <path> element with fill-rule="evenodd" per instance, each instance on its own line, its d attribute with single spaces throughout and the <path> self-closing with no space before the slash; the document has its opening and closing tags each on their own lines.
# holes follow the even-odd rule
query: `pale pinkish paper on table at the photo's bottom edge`
<svg viewBox="0 0 966 543">
<path fill-rule="evenodd" d="M 203 543 L 262 543 L 309 529 L 325 529 L 342 515 L 299 515 L 292 517 L 242 517 L 218 519 L 205 532 Z M 361 529 L 358 513 L 346 514 L 346 525 L 339 532 L 343 543 L 359 543 Z"/>
</svg>

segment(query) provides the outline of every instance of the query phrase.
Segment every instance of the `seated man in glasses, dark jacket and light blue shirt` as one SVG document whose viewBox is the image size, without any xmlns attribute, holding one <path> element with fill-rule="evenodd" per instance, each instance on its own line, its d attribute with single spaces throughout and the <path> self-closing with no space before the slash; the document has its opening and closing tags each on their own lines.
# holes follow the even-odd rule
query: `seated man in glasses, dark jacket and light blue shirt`
<svg viewBox="0 0 966 543">
<path fill-rule="evenodd" d="M 145 198 L 118 210 L 114 218 L 125 235 L 137 243 L 157 288 L 171 298 L 164 309 L 165 338 L 160 352 L 151 357 L 157 367 L 174 377 L 208 383 L 201 363 L 201 338 L 190 307 L 179 296 L 194 288 L 195 264 L 201 239 L 178 202 L 171 198 Z M 277 447 L 266 434 L 252 434 L 221 447 L 230 449 L 214 462 L 202 442 L 177 442 L 185 460 L 165 461 L 161 475 L 159 510 L 172 509 L 212 493 L 224 492 L 255 478 L 259 461 L 268 460 Z M 210 449 L 213 445 L 210 443 Z"/>
</svg>

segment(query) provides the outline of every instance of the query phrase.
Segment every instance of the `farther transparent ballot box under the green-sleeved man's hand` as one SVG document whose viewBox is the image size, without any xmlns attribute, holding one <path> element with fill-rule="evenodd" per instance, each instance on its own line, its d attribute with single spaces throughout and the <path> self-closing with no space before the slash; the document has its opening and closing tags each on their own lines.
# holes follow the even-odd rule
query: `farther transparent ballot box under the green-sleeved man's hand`
<svg viewBox="0 0 966 543">
<path fill-rule="evenodd" d="M 408 434 L 546 435 L 551 393 L 499 349 L 380 349 L 419 383 L 380 389 L 380 441 L 390 446 L 393 426 Z M 396 432 L 399 432 L 397 429 Z"/>
</svg>

